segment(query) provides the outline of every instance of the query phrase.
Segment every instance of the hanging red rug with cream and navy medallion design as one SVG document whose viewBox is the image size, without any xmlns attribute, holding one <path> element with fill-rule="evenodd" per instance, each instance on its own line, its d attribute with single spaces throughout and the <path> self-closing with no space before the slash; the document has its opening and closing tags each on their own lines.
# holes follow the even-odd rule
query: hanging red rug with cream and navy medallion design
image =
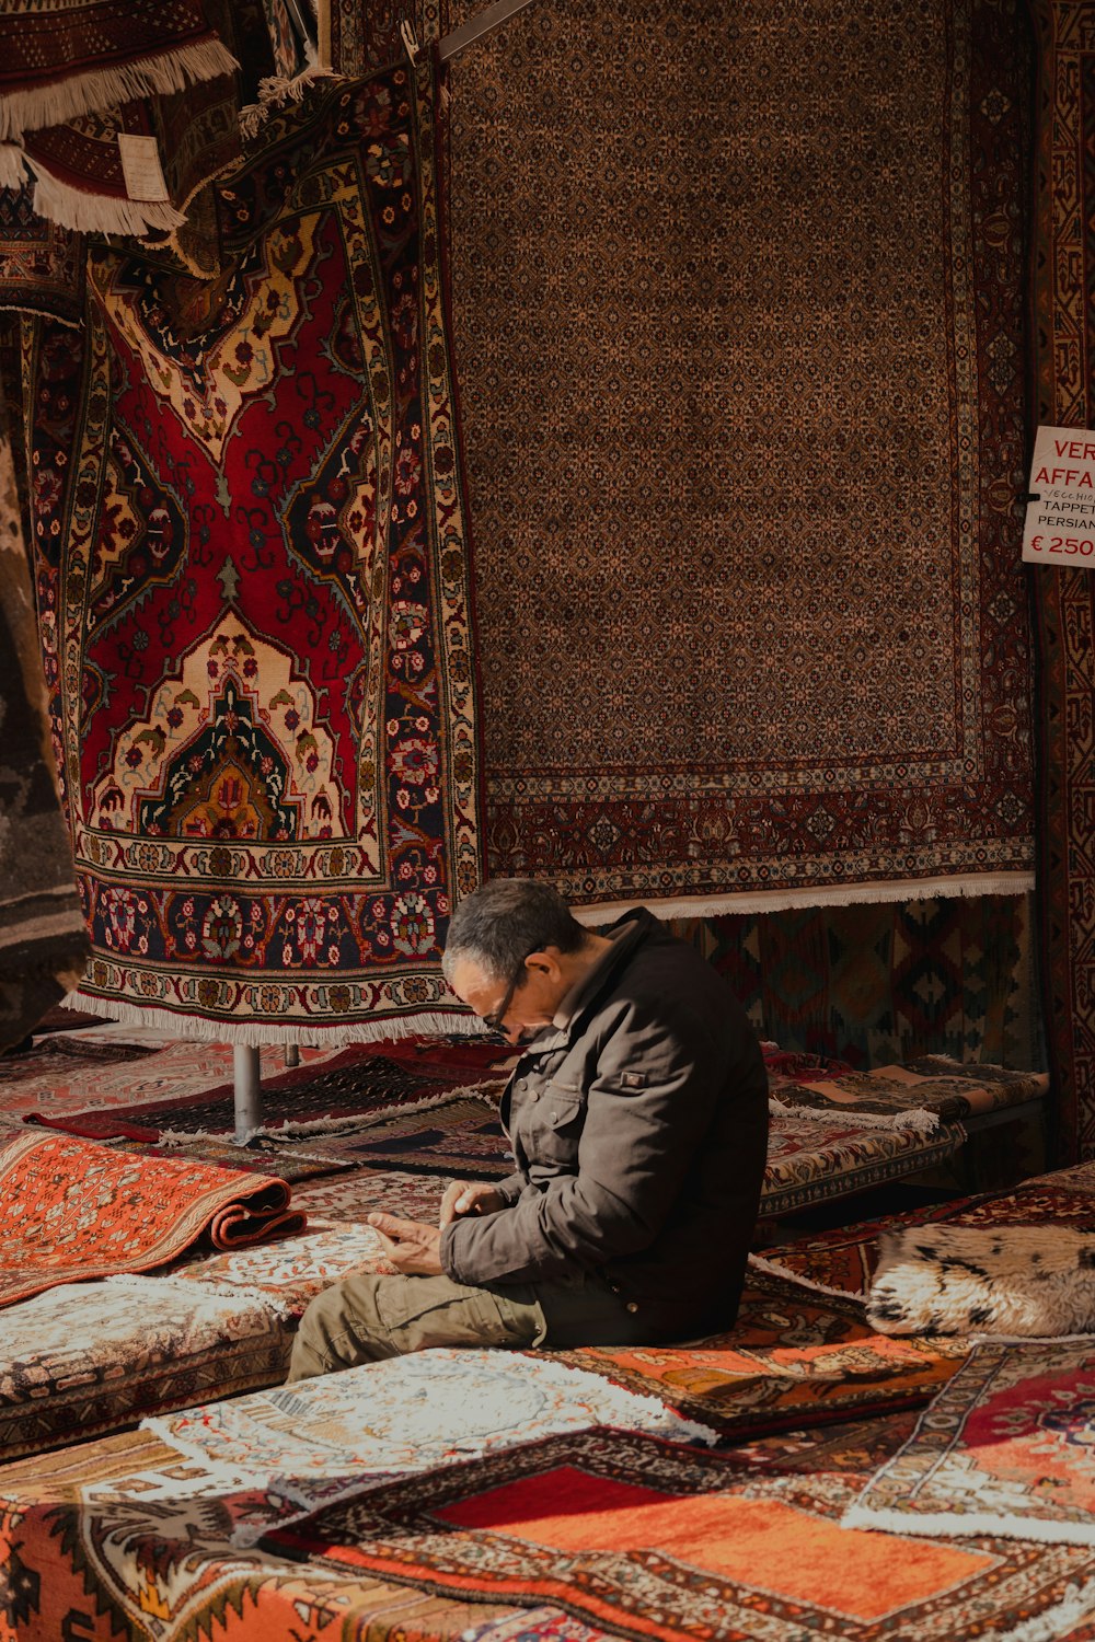
<svg viewBox="0 0 1095 1642">
<path fill-rule="evenodd" d="M 222 205 L 220 281 L 103 251 L 85 376 L 59 327 L 28 361 L 82 995 L 248 1043 L 460 1026 L 478 759 L 428 64 L 271 113 Z"/>
</svg>

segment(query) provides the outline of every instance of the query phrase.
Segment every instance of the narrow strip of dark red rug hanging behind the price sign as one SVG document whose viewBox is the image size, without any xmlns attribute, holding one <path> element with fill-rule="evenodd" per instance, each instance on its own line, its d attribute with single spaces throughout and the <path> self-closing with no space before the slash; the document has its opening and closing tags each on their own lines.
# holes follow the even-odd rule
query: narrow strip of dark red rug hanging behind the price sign
<svg viewBox="0 0 1095 1642">
<path fill-rule="evenodd" d="M 1034 0 L 1041 66 L 1033 268 L 1036 406 L 1049 427 L 1095 425 L 1095 5 Z M 1095 583 L 1031 571 L 1039 662 L 1039 887 L 1046 1034 L 1059 1102 L 1057 1163 L 1095 1156 Z"/>
</svg>

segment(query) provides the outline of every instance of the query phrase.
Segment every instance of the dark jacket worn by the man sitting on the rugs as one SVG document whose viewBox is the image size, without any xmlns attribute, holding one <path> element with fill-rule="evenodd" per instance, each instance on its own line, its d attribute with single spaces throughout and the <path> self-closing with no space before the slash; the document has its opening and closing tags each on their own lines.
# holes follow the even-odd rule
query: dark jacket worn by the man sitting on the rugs
<svg viewBox="0 0 1095 1642">
<path fill-rule="evenodd" d="M 509 1207 L 447 1227 L 442 1264 L 476 1286 L 599 1273 L 650 1340 L 729 1327 L 767 1153 L 760 1046 L 722 977 L 648 911 L 607 933 L 502 1095 Z"/>
</svg>

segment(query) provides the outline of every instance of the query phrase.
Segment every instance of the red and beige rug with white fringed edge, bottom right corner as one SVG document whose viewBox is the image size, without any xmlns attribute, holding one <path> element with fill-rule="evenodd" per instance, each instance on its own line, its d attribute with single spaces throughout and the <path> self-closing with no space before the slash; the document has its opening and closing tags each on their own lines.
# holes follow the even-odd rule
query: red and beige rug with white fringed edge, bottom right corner
<svg viewBox="0 0 1095 1642">
<path fill-rule="evenodd" d="M 1092 1547 L 1095 1342 L 978 1345 L 844 1522 Z"/>
</svg>

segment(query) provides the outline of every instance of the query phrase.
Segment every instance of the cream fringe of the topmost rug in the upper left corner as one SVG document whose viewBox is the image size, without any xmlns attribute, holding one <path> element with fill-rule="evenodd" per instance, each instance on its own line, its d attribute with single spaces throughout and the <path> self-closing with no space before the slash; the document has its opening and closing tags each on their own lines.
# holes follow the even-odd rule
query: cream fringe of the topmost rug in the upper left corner
<svg viewBox="0 0 1095 1642">
<path fill-rule="evenodd" d="M 197 80 L 213 80 L 235 74 L 240 67 L 220 39 L 200 39 L 190 46 L 164 48 L 121 67 L 95 67 L 69 74 L 51 85 L 5 92 L 0 97 L 0 141 L 64 125 L 82 113 L 115 108 L 161 92 L 182 92 Z"/>
</svg>

